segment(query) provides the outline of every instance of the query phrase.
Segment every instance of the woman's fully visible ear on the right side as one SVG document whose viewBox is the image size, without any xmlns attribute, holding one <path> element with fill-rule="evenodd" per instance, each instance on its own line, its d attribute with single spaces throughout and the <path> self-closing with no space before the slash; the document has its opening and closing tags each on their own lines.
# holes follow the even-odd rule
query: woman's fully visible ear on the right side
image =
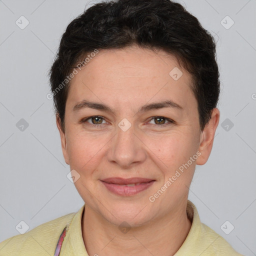
<svg viewBox="0 0 256 256">
<path fill-rule="evenodd" d="M 213 108 L 211 111 L 211 118 L 200 134 L 200 144 L 198 151 L 200 151 L 201 154 L 196 159 L 196 164 L 198 165 L 204 164 L 209 158 L 218 122 L 219 110 L 217 108 Z"/>
</svg>

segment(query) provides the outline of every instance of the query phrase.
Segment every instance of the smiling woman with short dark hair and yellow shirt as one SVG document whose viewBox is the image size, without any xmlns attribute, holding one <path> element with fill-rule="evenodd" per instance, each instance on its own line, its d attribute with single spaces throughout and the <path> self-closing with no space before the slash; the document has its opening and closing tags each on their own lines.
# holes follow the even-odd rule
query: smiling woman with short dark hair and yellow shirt
<svg viewBox="0 0 256 256">
<path fill-rule="evenodd" d="M 241 255 L 188 191 L 219 121 L 215 43 L 168 0 L 97 3 L 62 35 L 50 84 L 76 213 L 0 255 Z"/>
</svg>

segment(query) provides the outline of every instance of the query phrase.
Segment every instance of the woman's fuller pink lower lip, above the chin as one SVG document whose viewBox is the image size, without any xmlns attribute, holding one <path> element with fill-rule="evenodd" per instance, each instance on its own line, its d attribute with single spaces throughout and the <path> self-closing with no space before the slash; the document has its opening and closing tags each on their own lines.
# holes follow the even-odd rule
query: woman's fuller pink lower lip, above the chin
<svg viewBox="0 0 256 256">
<path fill-rule="evenodd" d="M 153 182 L 154 182 L 154 180 L 149 181 L 147 183 L 141 183 L 138 185 L 134 185 L 134 186 L 122 186 L 119 184 L 107 183 L 107 182 L 101 181 L 101 183 L 103 183 L 109 191 L 111 191 L 115 194 L 118 194 L 118 195 L 123 195 L 123 196 L 137 194 L 137 193 L 147 189 L 149 186 L 151 186 L 153 184 Z"/>
</svg>

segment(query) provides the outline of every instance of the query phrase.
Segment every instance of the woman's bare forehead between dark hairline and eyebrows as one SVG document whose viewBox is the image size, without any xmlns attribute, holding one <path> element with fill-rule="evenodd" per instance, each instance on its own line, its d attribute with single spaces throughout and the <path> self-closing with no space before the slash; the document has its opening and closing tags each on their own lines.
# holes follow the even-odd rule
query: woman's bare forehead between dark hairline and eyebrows
<svg viewBox="0 0 256 256">
<path fill-rule="evenodd" d="M 189 102 L 191 97 L 195 100 L 191 76 L 173 55 L 136 46 L 99 50 L 78 71 L 71 80 L 67 103 L 74 104 L 88 97 L 108 105 L 114 100 L 119 107 L 139 107 L 160 99 L 172 99 L 185 107 L 194 103 Z"/>
</svg>

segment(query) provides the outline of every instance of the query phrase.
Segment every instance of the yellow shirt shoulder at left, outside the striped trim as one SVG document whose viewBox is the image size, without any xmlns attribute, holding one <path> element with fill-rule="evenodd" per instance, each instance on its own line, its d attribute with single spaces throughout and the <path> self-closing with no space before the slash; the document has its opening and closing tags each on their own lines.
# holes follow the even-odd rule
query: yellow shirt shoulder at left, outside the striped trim
<svg viewBox="0 0 256 256">
<path fill-rule="evenodd" d="M 32 230 L 0 242 L 1 256 L 53 255 L 58 238 L 75 212 L 40 224 Z"/>
</svg>

